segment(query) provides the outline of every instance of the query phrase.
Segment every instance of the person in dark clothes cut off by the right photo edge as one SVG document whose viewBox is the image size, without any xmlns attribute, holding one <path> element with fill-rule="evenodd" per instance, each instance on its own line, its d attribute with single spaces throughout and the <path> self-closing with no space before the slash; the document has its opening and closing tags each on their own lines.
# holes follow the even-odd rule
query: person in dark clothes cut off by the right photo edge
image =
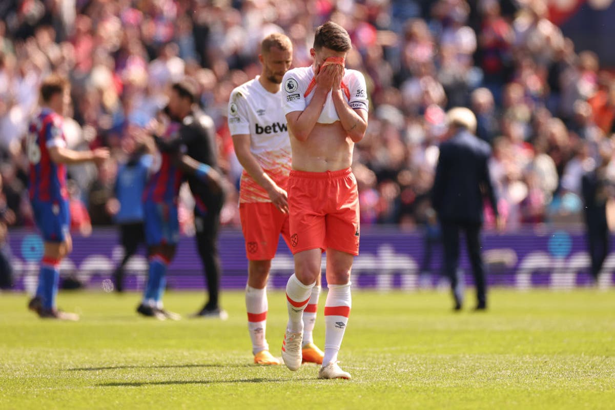
<svg viewBox="0 0 615 410">
<path fill-rule="evenodd" d="M 585 173 L 581 179 L 583 202 L 585 203 L 585 225 L 587 245 L 592 259 L 592 279 L 598 281 L 606 256 L 609 253 L 610 232 L 606 218 L 606 203 L 614 197 L 613 181 L 608 178 L 608 165 L 613 158 L 610 141 L 600 146 L 600 164 L 595 170 Z"/>
</svg>

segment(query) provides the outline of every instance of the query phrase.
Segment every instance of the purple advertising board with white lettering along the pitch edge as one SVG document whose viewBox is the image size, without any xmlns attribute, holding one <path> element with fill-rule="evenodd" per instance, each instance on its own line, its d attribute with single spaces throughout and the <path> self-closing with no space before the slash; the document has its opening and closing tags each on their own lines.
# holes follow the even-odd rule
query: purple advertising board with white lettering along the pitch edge
<svg viewBox="0 0 615 410">
<path fill-rule="evenodd" d="M 111 290 L 109 278 L 122 258 L 122 248 L 113 229 L 95 229 L 90 237 L 74 237 L 73 253 L 63 261 L 61 276 L 74 277 L 89 288 Z M 463 241 L 461 241 L 463 243 Z M 9 245 L 15 271 L 15 289 L 33 291 L 42 256 L 41 238 L 34 231 L 10 231 Z M 379 290 L 415 290 L 445 286 L 440 276 L 442 246 L 435 243 L 429 264 L 424 263 L 426 250 L 420 231 L 404 232 L 390 227 L 365 227 L 361 232 L 360 254 L 355 258 L 352 283 L 357 288 Z M 242 234 L 237 229 L 223 229 L 218 243 L 223 267 L 221 285 L 226 289 L 244 288 L 247 259 Z M 488 282 L 491 286 L 536 286 L 573 288 L 590 284 L 589 255 L 582 232 L 529 229 L 514 234 L 486 232 L 483 235 Z M 464 245 L 460 269 L 471 286 L 471 272 Z M 323 272 L 325 267 L 323 265 Z M 127 290 L 143 288 L 147 272 L 145 250 L 140 249 L 126 267 Z M 293 257 L 280 240 L 272 262 L 269 288 L 283 288 L 293 272 Z M 606 258 L 598 286 L 613 286 L 615 252 Z M 168 283 L 179 290 L 205 286 L 202 265 L 192 237 L 182 237 L 177 255 L 170 264 Z"/>
</svg>

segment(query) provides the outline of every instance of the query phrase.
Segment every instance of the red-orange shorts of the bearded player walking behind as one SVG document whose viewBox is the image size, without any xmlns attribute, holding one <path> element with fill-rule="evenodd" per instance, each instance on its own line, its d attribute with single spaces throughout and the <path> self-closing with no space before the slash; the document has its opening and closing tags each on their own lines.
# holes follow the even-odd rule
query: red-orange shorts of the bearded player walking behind
<svg viewBox="0 0 615 410">
<path fill-rule="evenodd" d="M 244 231 L 245 254 L 249 261 L 273 259 L 280 234 L 289 245 L 288 215 L 280 212 L 273 203 L 240 203 L 239 218 Z"/>
</svg>

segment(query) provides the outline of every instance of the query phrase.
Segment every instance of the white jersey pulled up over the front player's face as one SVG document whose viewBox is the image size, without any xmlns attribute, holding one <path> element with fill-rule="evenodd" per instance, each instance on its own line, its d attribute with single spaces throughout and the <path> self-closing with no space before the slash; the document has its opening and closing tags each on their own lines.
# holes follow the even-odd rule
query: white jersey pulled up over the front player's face
<svg viewBox="0 0 615 410">
<path fill-rule="evenodd" d="M 284 103 L 284 114 L 293 111 L 303 111 L 308 106 L 309 102 L 314 97 L 314 90 L 308 95 L 304 95 L 310 82 L 314 78 L 314 69 L 312 66 L 293 68 L 284 75 L 282 80 L 282 102 Z M 345 69 L 342 82 L 347 85 L 350 91 L 348 104 L 351 108 L 362 108 L 365 111 L 369 109 L 369 101 L 367 99 L 367 90 L 365 87 L 365 77 L 360 71 L 354 69 Z M 320 117 L 317 122 L 320 124 L 332 124 L 339 121 L 338 112 L 333 105 L 333 97 L 331 92 L 327 95 L 327 101 L 320 111 Z"/>
</svg>

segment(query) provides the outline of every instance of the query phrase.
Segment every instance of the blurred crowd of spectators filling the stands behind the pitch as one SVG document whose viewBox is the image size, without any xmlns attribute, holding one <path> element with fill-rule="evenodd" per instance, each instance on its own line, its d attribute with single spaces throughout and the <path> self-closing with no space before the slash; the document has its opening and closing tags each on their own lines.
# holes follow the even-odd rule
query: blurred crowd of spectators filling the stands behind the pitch
<svg viewBox="0 0 615 410">
<path fill-rule="evenodd" d="M 186 75 L 216 125 L 229 192 L 222 223 L 238 226 L 229 94 L 260 73 L 259 44 L 274 31 L 292 39 L 294 66 L 310 65 L 314 28 L 327 20 L 351 35 L 346 64 L 365 74 L 371 99 L 353 165 L 364 226 L 426 223 L 453 106 L 471 108 L 493 146 L 508 229 L 579 219 L 581 176 L 614 131 L 615 81 L 549 21 L 545 0 L 4 0 L 0 17 L 1 201 L 17 226 L 33 224 L 21 141 L 52 71 L 72 84 L 69 148 L 112 151 L 99 167 L 69 168 L 75 229 L 112 223 L 118 164 Z M 181 198 L 189 229 L 188 190 Z"/>
</svg>

